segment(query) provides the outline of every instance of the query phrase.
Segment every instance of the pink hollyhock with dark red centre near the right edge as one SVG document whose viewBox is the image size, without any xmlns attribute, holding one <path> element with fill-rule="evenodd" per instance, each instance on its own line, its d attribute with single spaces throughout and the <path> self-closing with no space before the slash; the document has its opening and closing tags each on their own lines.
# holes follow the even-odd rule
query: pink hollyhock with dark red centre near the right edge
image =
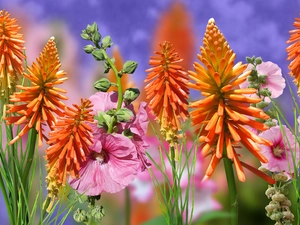
<svg viewBox="0 0 300 225">
<path fill-rule="evenodd" d="M 272 146 L 260 146 L 261 153 L 269 160 L 268 163 L 262 163 L 262 166 L 272 172 L 292 173 L 294 168 L 293 155 L 295 163 L 298 164 L 299 161 L 299 145 L 291 131 L 286 126 L 282 127 L 283 134 L 280 127 L 275 126 L 258 135 L 273 143 Z"/>
</svg>

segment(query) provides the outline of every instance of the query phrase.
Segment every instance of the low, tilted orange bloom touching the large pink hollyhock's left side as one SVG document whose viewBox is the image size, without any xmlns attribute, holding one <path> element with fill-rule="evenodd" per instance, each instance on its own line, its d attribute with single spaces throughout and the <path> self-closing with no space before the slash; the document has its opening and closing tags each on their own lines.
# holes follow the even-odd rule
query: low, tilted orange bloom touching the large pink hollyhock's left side
<svg viewBox="0 0 300 225">
<path fill-rule="evenodd" d="M 45 159 L 48 162 L 47 189 L 52 197 L 57 196 L 59 188 L 66 184 L 67 175 L 78 177 L 80 167 L 90 152 L 89 146 L 93 143 L 92 129 L 88 125 L 94 122 L 91 101 L 81 99 L 80 106 L 73 106 L 65 108 L 64 116 L 58 117 L 49 133 L 47 143 L 50 146 Z"/>
</svg>

